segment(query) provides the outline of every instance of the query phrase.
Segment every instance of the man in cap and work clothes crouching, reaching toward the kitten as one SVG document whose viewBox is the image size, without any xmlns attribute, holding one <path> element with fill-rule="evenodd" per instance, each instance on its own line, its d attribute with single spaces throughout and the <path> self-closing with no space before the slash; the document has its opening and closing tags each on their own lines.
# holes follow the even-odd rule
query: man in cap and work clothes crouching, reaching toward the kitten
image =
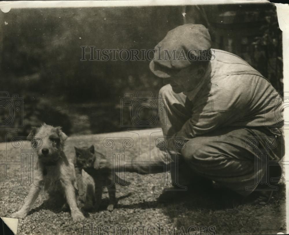
<svg viewBox="0 0 289 235">
<path fill-rule="evenodd" d="M 186 139 L 178 184 L 190 187 L 207 179 L 243 196 L 255 190 L 255 202 L 265 204 L 281 176 L 281 167 L 268 161 L 277 163 L 284 155 L 282 100 L 247 62 L 211 44 L 203 25 L 178 26 L 155 47 L 149 66 L 166 84 L 160 93 L 167 100 L 167 116 L 160 112 L 159 120 L 166 125 L 164 136 L 172 137 L 168 145 L 174 148 L 175 137 Z M 152 150 L 153 161 L 163 158 L 159 149 Z M 139 167 L 141 174 L 149 173 Z M 126 169 L 138 172 L 139 167 Z"/>
</svg>

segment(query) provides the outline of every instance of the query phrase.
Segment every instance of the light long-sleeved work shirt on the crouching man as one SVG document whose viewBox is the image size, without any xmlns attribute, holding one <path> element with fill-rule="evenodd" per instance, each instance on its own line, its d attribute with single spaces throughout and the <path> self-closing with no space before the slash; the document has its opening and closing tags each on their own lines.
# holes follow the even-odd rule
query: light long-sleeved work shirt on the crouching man
<svg viewBox="0 0 289 235">
<path fill-rule="evenodd" d="M 281 125 L 282 99 L 270 82 L 242 58 L 213 49 L 199 90 L 185 95 L 192 101 L 192 116 L 175 136 L 186 139 L 225 126 Z"/>
</svg>

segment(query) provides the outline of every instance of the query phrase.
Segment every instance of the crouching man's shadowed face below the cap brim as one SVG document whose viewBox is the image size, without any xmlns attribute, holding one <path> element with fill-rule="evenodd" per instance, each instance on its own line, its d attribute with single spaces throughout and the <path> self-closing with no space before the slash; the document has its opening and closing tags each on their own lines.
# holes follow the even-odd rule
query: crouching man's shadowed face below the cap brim
<svg viewBox="0 0 289 235">
<path fill-rule="evenodd" d="M 188 67 L 182 69 L 179 73 L 170 78 L 164 78 L 163 81 L 164 84 L 170 84 L 172 86 L 173 92 L 181 93 L 193 90 L 201 81 L 204 74 L 205 70 L 202 67 Z"/>
</svg>

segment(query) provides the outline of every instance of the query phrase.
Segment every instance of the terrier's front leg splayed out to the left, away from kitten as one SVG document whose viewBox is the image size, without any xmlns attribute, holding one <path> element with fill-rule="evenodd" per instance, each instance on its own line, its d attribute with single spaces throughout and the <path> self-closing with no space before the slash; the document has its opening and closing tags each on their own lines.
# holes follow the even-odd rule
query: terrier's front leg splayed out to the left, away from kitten
<svg viewBox="0 0 289 235">
<path fill-rule="evenodd" d="M 42 181 L 35 182 L 35 185 L 42 185 Z M 33 205 L 36 198 L 38 197 L 40 191 L 41 190 L 36 189 L 36 187 L 32 186 L 29 190 L 27 197 L 25 198 L 24 205 L 21 207 L 20 210 L 18 210 L 17 212 L 14 212 L 11 215 L 11 217 L 12 218 L 19 218 L 19 219 L 25 218 L 27 216 L 31 206 Z"/>
</svg>

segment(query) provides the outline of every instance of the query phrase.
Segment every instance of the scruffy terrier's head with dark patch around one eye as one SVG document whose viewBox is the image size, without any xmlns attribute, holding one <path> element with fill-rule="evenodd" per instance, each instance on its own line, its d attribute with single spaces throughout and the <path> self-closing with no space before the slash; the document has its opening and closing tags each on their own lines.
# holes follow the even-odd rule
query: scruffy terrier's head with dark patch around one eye
<svg viewBox="0 0 289 235">
<path fill-rule="evenodd" d="M 67 136 L 62 132 L 61 127 L 53 127 L 42 124 L 39 128 L 33 127 L 27 136 L 30 141 L 41 139 L 41 144 L 34 146 L 38 159 L 44 164 L 54 164 L 61 157 L 64 142 Z"/>
</svg>

